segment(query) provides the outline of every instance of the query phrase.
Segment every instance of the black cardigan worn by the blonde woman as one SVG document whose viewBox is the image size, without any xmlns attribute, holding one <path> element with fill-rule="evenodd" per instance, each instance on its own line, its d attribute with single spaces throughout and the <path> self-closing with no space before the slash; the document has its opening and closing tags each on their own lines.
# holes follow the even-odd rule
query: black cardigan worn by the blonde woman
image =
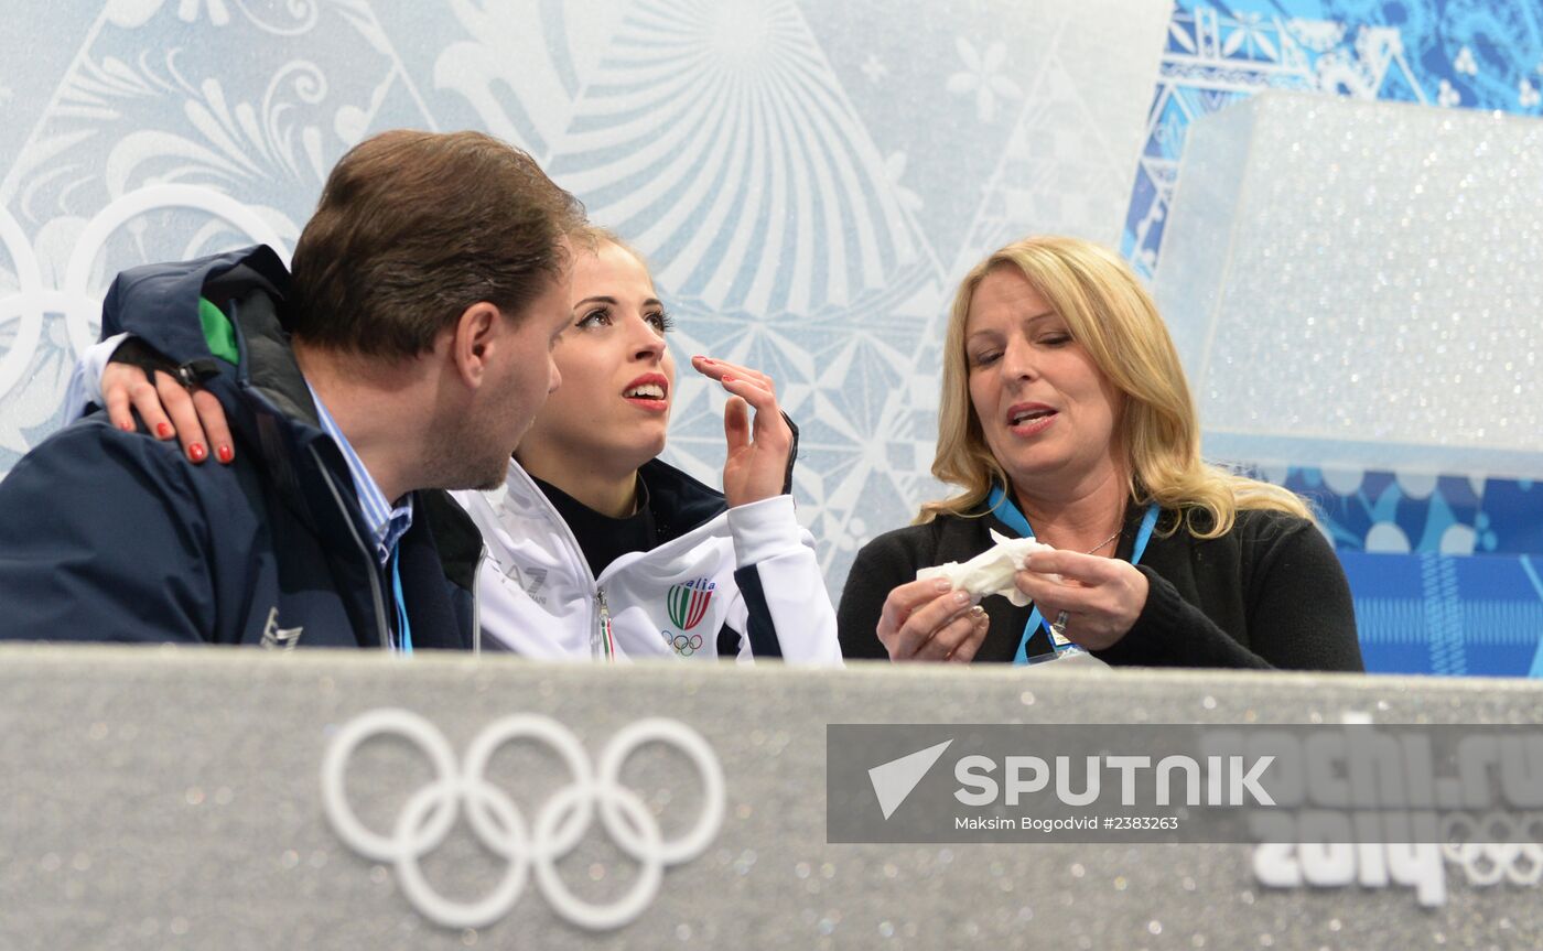
<svg viewBox="0 0 1543 951">
<path fill-rule="evenodd" d="M 983 506 L 984 508 L 984 506 Z M 981 509 L 983 511 L 983 509 Z M 1129 560 L 1143 509 L 1128 506 L 1117 556 Z M 1187 530 L 1163 536 L 1159 519 L 1137 568 L 1148 594 L 1131 630 L 1094 655 L 1143 667 L 1256 667 L 1362 670 L 1350 585 L 1339 559 L 1312 522 L 1275 511 L 1241 511 L 1227 534 L 1197 540 Z M 915 580 L 917 570 L 966 562 L 992 545 L 988 530 L 1017 533 L 995 516 L 940 516 L 886 533 L 858 551 L 841 594 L 841 653 L 887 658 L 875 627 L 884 597 Z M 1029 607 L 981 601 L 991 618 L 977 661 L 1011 662 Z M 1029 655 L 1051 648 L 1043 625 Z"/>
</svg>

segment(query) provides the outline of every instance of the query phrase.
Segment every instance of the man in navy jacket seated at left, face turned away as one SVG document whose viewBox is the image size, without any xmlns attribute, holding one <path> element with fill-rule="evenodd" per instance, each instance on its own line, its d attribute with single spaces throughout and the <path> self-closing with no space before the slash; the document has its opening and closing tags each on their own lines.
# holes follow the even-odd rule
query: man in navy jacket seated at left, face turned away
<svg viewBox="0 0 1543 951">
<path fill-rule="evenodd" d="M 501 483 L 557 388 L 582 219 L 517 148 L 390 131 L 293 276 L 265 247 L 119 275 L 103 333 L 201 383 L 235 462 L 103 414 L 39 445 L 0 483 L 0 638 L 474 647 L 481 539 L 441 489 Z"/>
</svg>

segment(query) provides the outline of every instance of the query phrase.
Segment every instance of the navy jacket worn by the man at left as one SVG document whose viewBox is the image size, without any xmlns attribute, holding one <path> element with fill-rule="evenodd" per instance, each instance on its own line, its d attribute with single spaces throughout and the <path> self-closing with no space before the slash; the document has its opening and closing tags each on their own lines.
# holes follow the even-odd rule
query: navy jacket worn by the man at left
<svg viewBox="0 0 1543 951">
<path fill-rule="evenodd" d="M 119 275 L 103 335 L 202 377 L 236 462 L 194 466 L 102 412 L 34 448 L 0 482 L 0 639 L 389 642 L 390 587 L 281 327 L 287 284 L 267 247 Z M 213 357 L 199 298 L 233 324 L 239 364 Z M 444 492 L 414 494 L 400 571 L 415 648 L 472 647 L 480 553 Z"/>
</svg>

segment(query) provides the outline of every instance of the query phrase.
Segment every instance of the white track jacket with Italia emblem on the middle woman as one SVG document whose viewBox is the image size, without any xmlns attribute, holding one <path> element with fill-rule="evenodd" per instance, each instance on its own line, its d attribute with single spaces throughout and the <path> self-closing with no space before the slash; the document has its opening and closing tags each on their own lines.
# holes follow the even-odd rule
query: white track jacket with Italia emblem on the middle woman
<svg viewBox="0 0 1543 951">
<path fill-rule="evenodd" d="M 568 523 L 518 463 L 503 488 L 454 492 L 488 553 L 477 580 L 483 645 L 531 658 L 782 658 L 841 664 L 836 613 L 792 496 L 725 511 L 719 492 L 659 460 L 656 513 L 687 528 L 596 577 Z"/>
</svg>

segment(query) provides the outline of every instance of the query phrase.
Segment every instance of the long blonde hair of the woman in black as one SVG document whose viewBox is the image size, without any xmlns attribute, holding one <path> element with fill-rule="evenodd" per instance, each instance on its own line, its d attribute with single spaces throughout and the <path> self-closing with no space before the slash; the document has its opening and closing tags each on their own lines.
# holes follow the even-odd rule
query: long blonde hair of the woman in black
<svg viewBox="0 0 1543 951">
<path fill-rule="evenodd" d="M 1066 321 L 1071 337 L 1099 371 L 1125 394 L 1114 438 L 1122 442 L 1129 463 L 1133 502 L 1156 502 L 1167 511 L 1183 513 L 1185 526 L 1202 539 L 1227 534 L 1239 509 L 1313 517 L 1296 494 L 1200 459 L 1200 425 L 1179 352 L 1157 307 L 1125 261 L 1075 238 L 1025 238 L 977 264 L 954 295 L 932 474 L 964 491 L 924 503 L 918 523 L 940 514 L 967 514 L 988 497 L 994 483 L 1011 485 L 986 445 L 971 403 L 964 352 L 971 300 L 981 279 L 998 267 L 1018 270 Z M 1176 531 L 1177 522 L 1167 530 Z"/>
</svg>

